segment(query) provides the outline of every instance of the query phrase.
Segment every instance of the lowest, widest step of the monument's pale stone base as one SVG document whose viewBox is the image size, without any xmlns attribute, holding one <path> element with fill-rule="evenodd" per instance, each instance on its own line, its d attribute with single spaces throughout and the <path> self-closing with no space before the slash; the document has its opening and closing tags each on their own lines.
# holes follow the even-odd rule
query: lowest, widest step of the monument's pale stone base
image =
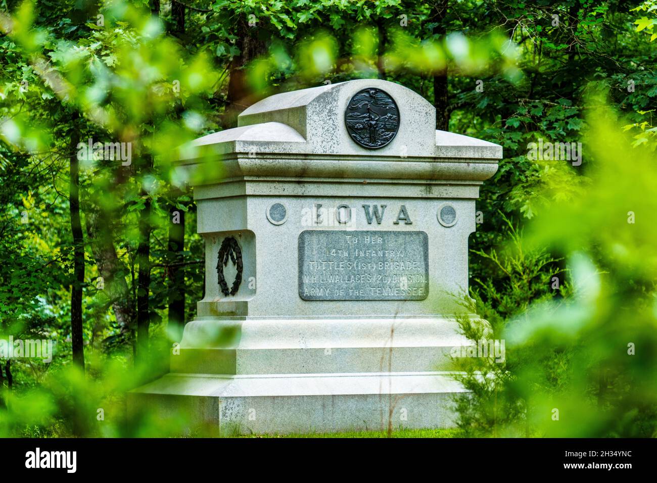
<svg viewBox="0 0 657 483">
<path fill-rule="evenodd" d="M 191 418 L 222 434 L 335 432 L 454 425 L 448 372 L 200 375 L 168 374 L 129 393 L 129 407 Z"/>
</svg>

